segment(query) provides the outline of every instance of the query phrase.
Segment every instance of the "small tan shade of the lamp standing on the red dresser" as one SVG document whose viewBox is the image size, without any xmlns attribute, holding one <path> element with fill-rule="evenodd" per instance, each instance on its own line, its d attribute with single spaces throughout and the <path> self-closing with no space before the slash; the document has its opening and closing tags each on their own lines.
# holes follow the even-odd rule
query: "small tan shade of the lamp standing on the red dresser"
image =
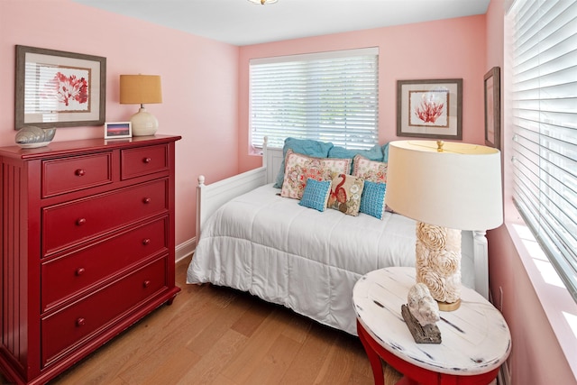
<svg viewBox="0 0 577 385">
<path fill-rule="evenodd" d="M 120 104 L 148 105 L 162 103 L 160 76 L 121 75 Z"/>
</svg>

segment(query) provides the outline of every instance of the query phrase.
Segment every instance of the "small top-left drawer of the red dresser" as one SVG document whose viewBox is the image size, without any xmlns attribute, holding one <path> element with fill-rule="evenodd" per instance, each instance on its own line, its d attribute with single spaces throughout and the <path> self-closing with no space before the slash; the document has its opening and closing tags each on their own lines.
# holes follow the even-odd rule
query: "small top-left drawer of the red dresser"
<svg viewBox="0 0 577 385">
<path fill-rule="evenodd" d="M 42 161 L 42 197 L 112 183 L 112 153 Z"/>
</svg>

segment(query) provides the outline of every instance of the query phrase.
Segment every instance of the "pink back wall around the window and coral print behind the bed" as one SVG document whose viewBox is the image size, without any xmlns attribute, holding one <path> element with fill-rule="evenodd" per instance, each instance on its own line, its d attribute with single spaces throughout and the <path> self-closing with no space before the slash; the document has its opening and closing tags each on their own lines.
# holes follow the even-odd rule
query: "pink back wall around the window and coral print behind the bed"
<svg viewBox="0 0 577 385">
<path fill-rule="evenodd" d="M 249 142 L 249 60 L 324 50 L 379 47 L 379 141 L 397 139 L 397 80 L 463 78 L 463 141 L 482 143 L 485 16 L 346 32 L 241 47 L 239 61 L 239 168 L 260 160 Z"/>
</svg>

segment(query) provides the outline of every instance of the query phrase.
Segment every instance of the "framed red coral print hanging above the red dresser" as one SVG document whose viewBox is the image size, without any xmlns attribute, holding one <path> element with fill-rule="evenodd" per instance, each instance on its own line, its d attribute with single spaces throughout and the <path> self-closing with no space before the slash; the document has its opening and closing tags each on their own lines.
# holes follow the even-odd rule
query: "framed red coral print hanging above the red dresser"
<svg viewBox="0 0 577 385">
<path fill-rule="evenodd" d="M 14 129 L 105 123 L 106 58 L 16 46 Z"/>
</svg>

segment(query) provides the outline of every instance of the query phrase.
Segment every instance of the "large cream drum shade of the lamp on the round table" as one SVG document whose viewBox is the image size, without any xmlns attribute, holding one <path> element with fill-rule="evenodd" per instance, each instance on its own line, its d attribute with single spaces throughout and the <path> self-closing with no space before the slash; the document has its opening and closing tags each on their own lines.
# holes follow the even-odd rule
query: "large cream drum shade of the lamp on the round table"
<svg viewBox="0 0 577 385">
<path fill-rule="evenodd" d="M 461 142 L 389 143 L 387 205 L 429 225 L 488 230 L 503 223 L 500 152 Z"/>
</svg>

